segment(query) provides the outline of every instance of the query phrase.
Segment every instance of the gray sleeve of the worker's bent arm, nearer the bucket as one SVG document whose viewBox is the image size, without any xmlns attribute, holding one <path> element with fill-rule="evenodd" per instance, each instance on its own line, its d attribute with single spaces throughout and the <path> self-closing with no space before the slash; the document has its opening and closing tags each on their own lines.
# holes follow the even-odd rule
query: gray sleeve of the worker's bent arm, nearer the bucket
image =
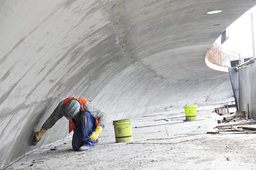
<svg viewBox="0 0 256 170">
<path fill-rule="evenodd" d="M 101 112 L 101 110 L 94 106 L 91 102 L 86 103 L 85 110 L 90 112 L 94 119 L 99 119 L 98 125 L 104 128 L 107 122 L 107 115 L 105 113 Z"/>
</svg>

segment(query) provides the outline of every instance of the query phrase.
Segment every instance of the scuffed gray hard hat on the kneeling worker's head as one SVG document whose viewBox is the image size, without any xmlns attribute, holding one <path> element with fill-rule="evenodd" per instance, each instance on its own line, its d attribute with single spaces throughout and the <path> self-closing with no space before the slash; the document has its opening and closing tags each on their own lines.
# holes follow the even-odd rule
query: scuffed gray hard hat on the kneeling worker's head
<svg viewBox="0 0 256 170">
<path fill-rule="evenodd" d="M 80 111 L 80 108 L 81 108 L 80 102 L 78 102 L 75 99 L 72 99 L 66 103 L 65 108 L 62 111 L 62 114 L 68 119 L 71 119 Z"/>
</svg>

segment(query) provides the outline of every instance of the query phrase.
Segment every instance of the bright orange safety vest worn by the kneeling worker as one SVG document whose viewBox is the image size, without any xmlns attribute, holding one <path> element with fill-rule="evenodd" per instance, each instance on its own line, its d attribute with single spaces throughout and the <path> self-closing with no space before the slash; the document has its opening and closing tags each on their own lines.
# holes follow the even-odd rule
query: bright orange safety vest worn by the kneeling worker
<svg viewBox="0 0 256 170">
<path fill-rule="evenodd" d="M 69 101 L 69 100 L 71 100 L 71 99 L 75 99 L 75 100 L 77 100 L 79 103 L 80 103 L 80 105 L 81 105 L 81 111 L 85 111 L 85 105 L 86 105 L 86 103 L 89 101 L 89 102 L 91 102 L 90 100 L 88 100 L 88 99 L 86 99 L 86 98 L 76 98 L 76 97 L 68 97 L 68 98 L 66 98 L 65 100 L 64 100 L 64 107 L 65 107 L 65 105 L 67 104 L 67 102 Z M 67 118 L 68 119 L 68 118 Z M 69 130 L 69 132 L 68 133 L 70 133 L 70 132 L 72 132 L 72 130 L 74 130 L 74 128 L 75 128 L 75 123 L 73 122 L 73 119 L 68 119 L 68 121 L 69 121 L 69 126 L 68 126 L 68 130 Z M 95 125 L 97 126 L 99 124 L 99 119 L 95 119 Z"/>
</svg>

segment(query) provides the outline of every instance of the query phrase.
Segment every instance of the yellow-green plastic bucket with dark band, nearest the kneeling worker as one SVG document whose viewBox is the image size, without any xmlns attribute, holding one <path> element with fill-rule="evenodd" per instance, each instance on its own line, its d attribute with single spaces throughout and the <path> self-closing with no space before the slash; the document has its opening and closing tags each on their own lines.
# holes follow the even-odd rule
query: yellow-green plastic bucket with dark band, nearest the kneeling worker
<svg viewBox="0 0 256 170">
<path fill-rule="evenodd" d="M 131 129 L 131 119 L 113 121 L 115 129 L 116 142 L 129 142 L 133 140 L 133 132 Z"/>
</svg>

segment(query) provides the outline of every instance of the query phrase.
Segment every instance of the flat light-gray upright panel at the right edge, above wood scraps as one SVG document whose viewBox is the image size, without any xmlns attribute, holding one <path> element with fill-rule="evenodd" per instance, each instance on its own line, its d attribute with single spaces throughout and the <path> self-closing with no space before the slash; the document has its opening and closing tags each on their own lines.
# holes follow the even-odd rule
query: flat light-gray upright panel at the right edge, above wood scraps
<svg viewBox="0 0 256 170">
<path fill-rule="evenodd" d="M 256 119 L 256 64 L 239 69 L 239 110 L 249 112 Z M 249 104 L 249 110 L 248 110 Z"/>
</svg>

